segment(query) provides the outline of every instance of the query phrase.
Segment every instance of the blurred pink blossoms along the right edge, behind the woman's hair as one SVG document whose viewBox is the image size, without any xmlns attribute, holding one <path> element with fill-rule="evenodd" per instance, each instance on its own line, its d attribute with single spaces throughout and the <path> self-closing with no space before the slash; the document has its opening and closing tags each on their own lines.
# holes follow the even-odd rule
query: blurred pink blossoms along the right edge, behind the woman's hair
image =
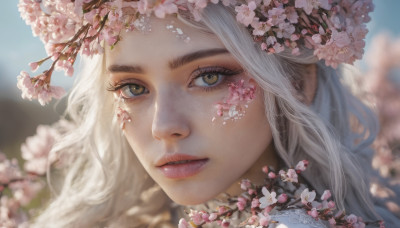
<svg viewBox="0 0 400 228">
<path fill-rule="evenodd" d="M 368 71 L 361 85 L 372 97 L 379 116 L 373 167 L 385 177 L 399 180 L 400 159 L 400 38 L 379 35 L 365 55 Z"/>
</svg>

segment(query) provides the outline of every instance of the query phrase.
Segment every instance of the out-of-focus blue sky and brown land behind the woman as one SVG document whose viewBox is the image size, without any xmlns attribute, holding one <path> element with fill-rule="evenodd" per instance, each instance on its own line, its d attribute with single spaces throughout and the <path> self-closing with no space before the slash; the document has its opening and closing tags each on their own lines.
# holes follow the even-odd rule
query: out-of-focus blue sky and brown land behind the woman
<svg viewBox="0 0 400 228">
<path fill-rule="evenodd" d="M 26 101 L 20 96 L 16 76 L 21 70 L 29 72 L 28 63 L 46 57 L 46 53 L 41 41 L 32 36 L 30 27 L 20 18 L 17 3 L 18 0 L 2 1 L 0 14 L 0 151 L 13 157 L 19 156 L 21 143 L 27 136 L 35 134 L 37 125 L 55 122 L 65 107 L 65 101 L 58 105 L 53 101 L 42 107 L 36 100 Z M 374 3 L 366 52 L 372 52 L 372 41 L 381 34 L 387 34 L 392 40 L 400 39 L 400 1 L 375 0 Z M 383 42 L 390 42 L 390 39 Z M 373 54 L 370 56 L 374 58 Z M 371 71 L 369 65 L 364 58 L 356 66 L 361 72 L 368 72 Z M 46 66 L 38 71 L 42 69 Z M 400 81 L 400 70 L 391 72 L 394 74 L 392 77 Z M 61 72 L 56 72 L 53 79 L 54 85 L 61 85 L 67 90 L 73 82 L 73 78 Z"/>
</svg>

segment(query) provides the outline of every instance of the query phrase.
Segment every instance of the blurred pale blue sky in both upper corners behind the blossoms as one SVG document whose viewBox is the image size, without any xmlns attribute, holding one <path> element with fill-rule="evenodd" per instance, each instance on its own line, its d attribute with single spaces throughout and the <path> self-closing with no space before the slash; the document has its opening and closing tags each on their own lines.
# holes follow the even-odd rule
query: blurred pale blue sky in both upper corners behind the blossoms
<svg viewBox="0 0 400 228">
<path fill-rule="evenodd" d="M 3 0 L 0 14 L 0 98 L 20 99 L 16 88 L 16 76 L 21 70 L 29 71 L 28 63 L 46 57 L 41 41 L 32 36 L 30 27 L 20 18 L 18 0 Z M 392 37 L 400 37 L 400 0 L 374 0 L 375 11 L 372 21 L 368 24 L 370 33 L 367 37 L 367 47 L 373 36 L 386 32 Z M 365 68 L 365 63 L 358 63 Z M 38 71 L 45 69 L 43 66 Z M 66 88 L 72 84 L 72 78 L 61 72 L 54 75 L 54 85 Z"/>
</svg>

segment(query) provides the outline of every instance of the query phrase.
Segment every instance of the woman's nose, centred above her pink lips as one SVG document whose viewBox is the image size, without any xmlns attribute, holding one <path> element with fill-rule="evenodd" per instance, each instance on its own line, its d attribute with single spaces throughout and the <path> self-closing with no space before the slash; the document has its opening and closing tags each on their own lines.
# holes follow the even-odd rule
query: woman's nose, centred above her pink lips
<svg viewBox="0 0 400 228">
<path fill-rule="evenodd" d="M 155 139 L 173 141 L 184 139 L 190 134 L 184 102 L 178 97 L 171 93 L 159 94 L 157 97 L 151 129 Z"/>
</svg>

